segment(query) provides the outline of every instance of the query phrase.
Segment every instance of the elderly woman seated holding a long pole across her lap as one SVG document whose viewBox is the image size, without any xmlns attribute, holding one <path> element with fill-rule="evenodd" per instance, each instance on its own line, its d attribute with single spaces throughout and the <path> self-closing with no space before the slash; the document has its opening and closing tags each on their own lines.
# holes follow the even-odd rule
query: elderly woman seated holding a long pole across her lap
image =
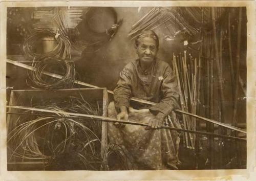
<svg viewBox="0 0 256 181">
<path fill-rule="evenodd" d="M 114 89 L 114 103 L 109 116 L 118 120 L 133 119 L 148 124 L 109 124 L 109 141 L 122 148 L 129 169 L 177 169 L 179 137 L 176 131 L 157 129 L 172 115 L 170 126 L 180 127 L 173 110 L 178 105 L 177 80 L 168 63 L 157 59 L 158 36 L 144 31 L 135 41 L 138 59 L 128 63 L 120 73 Z M 131 97 L 155 102 L 153 106 L 130 102 Z M 141 109 L 141 110 L 135 110 Z"/>
</svg>

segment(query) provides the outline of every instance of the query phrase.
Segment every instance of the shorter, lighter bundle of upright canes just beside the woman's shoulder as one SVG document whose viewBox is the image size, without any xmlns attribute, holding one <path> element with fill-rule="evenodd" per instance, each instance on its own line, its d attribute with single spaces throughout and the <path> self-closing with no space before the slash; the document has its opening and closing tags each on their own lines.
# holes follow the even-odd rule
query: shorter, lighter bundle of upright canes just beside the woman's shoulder
<svg viewBox="0 0 256 181">
<path fill-rule="evenodd" d="M 199 62 L 184 51 L 184 54 L 173 55 L 173 67 L 177 76 L 178 88 L 180 92 L 180 104 L 183 111 L 196 113 L 198 103 L 199 84 Z M 185 129 L 196 130 L 196 121 L 188 116 L 182 115 Z M 187 148 L 195 148 L 195 135 L 184 133 L 183 141 Z"/>
</svg>

